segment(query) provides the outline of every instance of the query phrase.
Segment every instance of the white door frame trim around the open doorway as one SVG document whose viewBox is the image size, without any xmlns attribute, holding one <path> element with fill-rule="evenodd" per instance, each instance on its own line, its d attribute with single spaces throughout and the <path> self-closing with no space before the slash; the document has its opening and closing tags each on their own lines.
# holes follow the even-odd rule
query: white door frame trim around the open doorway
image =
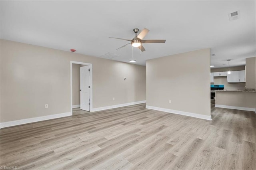
<svg viewBox="0 0 256 170">
<path fill-rule="evenodd" d="M 71 115 L 73 115 L 73 96 L 72 96 L 72 91 L 73 91 L 73 89 L 72 89 L 72 84 L 73 84 L 73 82 L 72 82 L 72 64 L 81 64 L 81 65 L 89 65 L 89 67 L 90 67 L 90 111 L 92 111 L 92 63 L 83 63 L 83 62 L 79 62 L 79 61 L 70 61 L 70 107 L 71 107 L 71 109 L 70 109 L 70 113 L 71 113 Z"/>
</svg>

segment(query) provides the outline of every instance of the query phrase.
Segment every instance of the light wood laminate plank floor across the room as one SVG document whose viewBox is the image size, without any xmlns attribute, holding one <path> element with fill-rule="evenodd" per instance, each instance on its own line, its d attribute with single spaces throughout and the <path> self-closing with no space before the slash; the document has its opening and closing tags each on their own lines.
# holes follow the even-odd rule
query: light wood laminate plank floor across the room
<svg viewBox="0 0 256 170">
<path fill-rule="evenodd" d="M 76 112 L 76 113 L 75 113 Z M 256 169 L 256 114 L 212 121 L 133 105 L 0 130 L 0 166 L 21 169 Z M 83 114 L 84 113 L 84 114 Z"/>
</svg>

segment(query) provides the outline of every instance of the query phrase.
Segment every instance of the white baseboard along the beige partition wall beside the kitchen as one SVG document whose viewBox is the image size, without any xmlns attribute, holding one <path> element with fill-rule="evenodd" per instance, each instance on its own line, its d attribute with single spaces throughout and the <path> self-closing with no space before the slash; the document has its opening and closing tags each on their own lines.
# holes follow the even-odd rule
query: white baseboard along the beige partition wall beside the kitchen
<svg viewBox="0 0 256 170">
<path fill-rule="evenodd" d="M 177 114 L 177 115 L 196 117 L 196 118 L 200 118 L 200 119 L 206 119 L 206 120 L 209 120 L 209 121 L 212 120 L 212 116 L 200 115 L 200 114 L 197 114 L 197 113 L 190 113 L 190 112 L 184 112 L 184 111 L 176 111 L 176 110 L 172 110 L 172 109 L 164 109 L 164 108 L 161 108 L 161 107 L 154 107 L 154 106 L 146 105 L 146 109 L 152 109 L 152 110 L 156 110 L 156 111 L 174 113 L 174 114 Z"/>
</svg>

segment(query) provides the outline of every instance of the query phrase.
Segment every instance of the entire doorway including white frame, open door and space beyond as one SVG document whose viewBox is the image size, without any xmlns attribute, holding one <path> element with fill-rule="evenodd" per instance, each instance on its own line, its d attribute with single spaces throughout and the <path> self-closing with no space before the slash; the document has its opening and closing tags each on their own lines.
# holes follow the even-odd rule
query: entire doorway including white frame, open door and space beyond
<svg viewBox="0 0 256 170">
<path fill-rule="evenodd" d="M 70 61 L 70 106 L 72 115 L 92 110 L 92 64 Z"/>
</svg>

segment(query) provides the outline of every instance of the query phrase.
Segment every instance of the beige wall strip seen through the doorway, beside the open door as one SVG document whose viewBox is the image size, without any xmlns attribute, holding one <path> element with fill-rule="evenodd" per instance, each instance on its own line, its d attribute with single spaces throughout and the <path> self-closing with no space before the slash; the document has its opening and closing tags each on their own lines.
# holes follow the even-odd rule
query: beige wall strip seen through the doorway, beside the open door
<svg viewBox="0 0 256 170">
<path fill-rule="evenodd" d="M 80 105 L 80 67 L 83 66 L 72 64 L 72 105 Z"/>
</svg>

